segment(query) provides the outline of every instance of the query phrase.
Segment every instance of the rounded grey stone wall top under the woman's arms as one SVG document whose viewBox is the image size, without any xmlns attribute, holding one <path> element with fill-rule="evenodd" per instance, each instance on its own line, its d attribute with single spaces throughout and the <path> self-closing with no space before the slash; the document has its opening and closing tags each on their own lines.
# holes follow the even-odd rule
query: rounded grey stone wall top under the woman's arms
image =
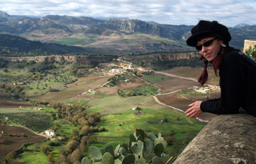
<svg viewBox="0 0 256 164">
<path fill-rule="evenodd" d="M 174 163 L 256 163 L 256 118 L 242 114 L 213 118 Z"/>
</svg>

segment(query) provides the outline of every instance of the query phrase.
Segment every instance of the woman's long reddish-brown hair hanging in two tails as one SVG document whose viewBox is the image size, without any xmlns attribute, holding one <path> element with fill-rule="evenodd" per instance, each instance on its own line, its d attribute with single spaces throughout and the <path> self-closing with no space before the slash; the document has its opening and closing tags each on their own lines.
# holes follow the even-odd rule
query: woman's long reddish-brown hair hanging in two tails
<svg viewBox="0 0 256 164">
<path fill-rule="evenodd" d="M 222 58 L 224 56 L 224 52 L 226 51 L 226 49 L 227 49 L 227 47 L 221 46 L 221 51 L 218 53 L 218 55 L 214 59 L 214 61 L 212 61 L 213 70 L 215 70 L 216 76 L 218 76 L 218 70 L 221 67 Z M 201 76 L 198 79 L 198 82 L 201 85 L 204 85 L 208 79 L 208 72 L 207 72 L 208 61 L 206 60 L 206 58 L 203 57 L 203 55 L 201 55 L 200 60 L 203 60 L 204 69 L 203 69 Z"/>
</svg>

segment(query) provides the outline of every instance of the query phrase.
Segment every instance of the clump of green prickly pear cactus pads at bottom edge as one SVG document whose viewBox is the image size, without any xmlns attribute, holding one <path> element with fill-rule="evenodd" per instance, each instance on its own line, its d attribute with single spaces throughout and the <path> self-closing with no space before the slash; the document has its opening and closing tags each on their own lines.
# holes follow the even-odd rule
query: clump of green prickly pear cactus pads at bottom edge
<svg viewBox="0 0 256 164">
<path fill-rule="evenodd" d="M 129 136 L 128 146 L 123 143 L 117 145 L 115 149 L 112 146 L 107 146 L 104 150 L 91 146 L 89 148 L 90 158 L 83 158 L 81 164 L 162 164 L 163 151 L 167 142 L 161 133 L 158 133 L 157 136 L 149 133 L 147 138 L 145 139 L 143 130 L 136 130 Z M 168 161 L 170 160 L 172 157 Z"/>
</svg>

